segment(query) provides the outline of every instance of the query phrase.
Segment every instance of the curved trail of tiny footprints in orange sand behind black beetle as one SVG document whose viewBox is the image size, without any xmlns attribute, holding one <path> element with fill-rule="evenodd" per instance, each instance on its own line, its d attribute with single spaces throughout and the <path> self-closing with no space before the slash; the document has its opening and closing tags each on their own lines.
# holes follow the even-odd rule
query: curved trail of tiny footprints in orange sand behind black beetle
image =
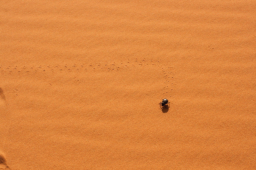
<svg viewBox="0 0 256 170">
<path fill-rule="evenodd" d="M 115 62 L 107 62 L 107 63 L 96 63 L 96 64 L 73 64 L 73 65 L 39 65 L 39 66 L 0 66 L 1 74 L 31 74 L 36 72 L 96 72 L 96 71 L 119 71 L 124 70 L 129 67 L 147 67 L 147 66 L 155 66 L 159 68 L 162 72 L 162 76 L 164 78 L 164 87 L 165 91 L 163 95 L 168 95 L 169 88 L 173 90 L 173 80 L 175 80 L 175 73 L 173 72 L 173 67 L 165 66 L 165 64 L 161 64 L 160 61 L 153 60 L 137 60 L 134 61 L 120 61 L 120 63 Z"/>
</svg>

